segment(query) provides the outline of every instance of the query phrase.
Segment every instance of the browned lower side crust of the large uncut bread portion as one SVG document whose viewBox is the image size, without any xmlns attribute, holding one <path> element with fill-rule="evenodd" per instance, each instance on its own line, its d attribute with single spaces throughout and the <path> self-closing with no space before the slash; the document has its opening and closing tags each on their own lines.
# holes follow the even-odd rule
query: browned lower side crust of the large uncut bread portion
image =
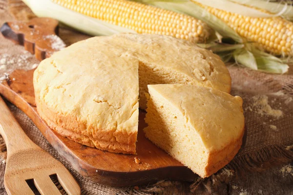
<svg viewBox="0 0 293 195">
<path fill-rule="evenodd" d="M 73 140 L 75 142 L 81 143 L 83 145 L 89 146 L 89 147 L 95 147 L 101 150 L 106 150 L 112 153 L 122 153 L 122 154 L 136 154 L 136 137 L 137 134 L 131 134 L 127 135 L 129 139 L 127 141 L 124 137 L 126 135 L 123 135 L 122 132 L 114 132 L 115 137 L 120 137 L 120 140 L 126 141 L 126 142 L 118 142 L 117 138 L 113 138 L 114 135 L 110 134 L 109 132 L 113 131 L 102 131 L 98 133 L 98 137 L 93 137 L 92 134 L 90 134 L 88 131 L 84 132 L 74 132 L 69 129 L 65 129 L 64 123 L 66 123 L 66 120 L 71 121 L 71 127 L 75 127 L 74 130 L 79 130 L 80 125 L 84 125 L 81 123 L 78 123 L 76 119 L 73 117 L 63 117 L 62 115 L 56 115 L 55 113 L 52 113 L 50 109 L 47 109 L 46 106 L 43 104 L 40 104 L 38 98 L 36 98 L 36 104 L 37 104 L 37 111 L 40 115 L 40 117 L 48 124 L 48 126 L 55 130 L 60 135 L 69 138 L 70 140 Z M 54 118 L 56 123 L 50 120 L 44 113 L 47 115 L 50 115 L 51 118 Z M 65 121 L 64 121 L 65 120 Z M 83 128 L 84 129 L 84 128 Z M 110 140 L 107 138 L 112 137 Z M 119 138 L 118 138 L 119 139 Z"/>
</svg>

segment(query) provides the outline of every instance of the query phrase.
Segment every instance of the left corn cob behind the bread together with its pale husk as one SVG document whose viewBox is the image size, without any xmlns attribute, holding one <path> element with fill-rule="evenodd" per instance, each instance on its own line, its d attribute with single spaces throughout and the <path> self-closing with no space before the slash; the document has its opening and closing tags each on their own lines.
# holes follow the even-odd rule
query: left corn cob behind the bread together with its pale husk
<svg viewBox="0 0 293 195">
<path fill-rule="evenodd" d="M 110 35 L 119 32 L 137 32 L 159 35 L 169 35 L 180 39 L 187 39 L 192 42 L 205 42 L 212 30 L 209 26 L 194 17 L 176 13 L 169 10 L 160 9 L 143 3 L 132 2 L 128 0 L 24 0 L 34 11 L 35 4 L 46 2 L 49 7 L 71 14 L 71 21 L 64 18 L 70 17 L 66 14 L 50 12 L 43 9 L 38 16 L 53 17 L 61 22 L 82 30 L 91 35 Z M 39 2 L 37 2 L 39 1 Z M 44 5 L 45 6 L 45 5 Z M 64 10 L 65 9 L 65 10 Z M 74 14 L 72 14 L 75 13 Z M 62 17 L 59 17 L 63 15 Z M 80 17 L 83 20 L 79 20 Z M 96 28 L 95 33 L 91 26 L 83 25 L 84 20 L 90 20 L 97 23 L 101 22 L 107 28 L 114 29 L 113 32 L 101 33 Z M 109 25 L 107 25 L 109 24 Z M 78 25 L 83 25 L 82 27 Z M 116 28 L 119 26 L 120 28 Z M 111 29 L 109 29 L 111 30 Z"/>
</svg>

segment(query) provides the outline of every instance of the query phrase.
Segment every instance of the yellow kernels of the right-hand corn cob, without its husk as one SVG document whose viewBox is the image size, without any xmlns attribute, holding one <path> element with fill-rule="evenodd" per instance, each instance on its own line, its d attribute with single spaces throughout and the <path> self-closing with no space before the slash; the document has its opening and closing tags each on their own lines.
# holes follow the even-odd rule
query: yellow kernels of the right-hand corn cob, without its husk
<svg viewBox="0 0 293 195">
<path fill-rule="evenodd" d="M 197 2 L 195 2 L 197 3 Z M 201 5 L 242 38 L 275 55 L 293 56 L 293 22 L 281 17 L 251 18 Z"/>
</svg>

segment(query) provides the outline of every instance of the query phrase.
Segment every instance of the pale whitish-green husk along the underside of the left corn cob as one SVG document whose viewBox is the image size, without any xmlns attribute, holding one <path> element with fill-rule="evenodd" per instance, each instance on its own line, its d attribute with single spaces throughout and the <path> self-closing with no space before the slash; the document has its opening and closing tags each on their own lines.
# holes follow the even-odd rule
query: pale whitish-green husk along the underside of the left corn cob
<svg viewBox="0 0 293 195">
<path fill-rule="evenodd" d="M 92 36 L 112 35 L 133 30 L 106 23 L 66 9 L 51 0 L 22 0 L 38 17 L 59 20 L 63 24 Z"/>
</svg>

